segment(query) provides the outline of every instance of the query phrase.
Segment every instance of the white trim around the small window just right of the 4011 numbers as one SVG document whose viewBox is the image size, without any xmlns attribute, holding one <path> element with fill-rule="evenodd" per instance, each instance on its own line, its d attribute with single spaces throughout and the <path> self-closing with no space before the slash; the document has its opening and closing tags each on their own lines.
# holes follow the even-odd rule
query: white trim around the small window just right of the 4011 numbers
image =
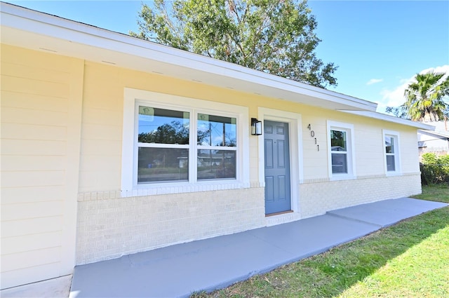
<svg viewBox="0 0 449 298">
<path fill-rule="evenodd" d="M 347 134 L 347 173 L 332 172 L 332 150 L 330 143 L 330 130 L 340 130 Z M 328 139 L 328 175 L 330 180 L 356 179 L 356 154 L 354 146 L 354 125 L 337 121 L 327 121 Z M 335 153 L 335 152 L 334 152 Z"/>
</svg>

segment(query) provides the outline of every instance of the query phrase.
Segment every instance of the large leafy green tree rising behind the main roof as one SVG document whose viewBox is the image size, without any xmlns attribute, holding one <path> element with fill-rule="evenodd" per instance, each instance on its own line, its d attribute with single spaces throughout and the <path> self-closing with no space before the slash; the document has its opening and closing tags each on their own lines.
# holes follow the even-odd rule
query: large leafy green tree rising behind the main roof
<svg viewBox="0 0 449 298">
<path fill-rule="evenodd" d="M 337 67 L 314 53 L 321 40 L 306 0 L 167 3 L 142 4 L 140 32 L 130 34 L 314 86 L 337 85 Z"/>
</svg>

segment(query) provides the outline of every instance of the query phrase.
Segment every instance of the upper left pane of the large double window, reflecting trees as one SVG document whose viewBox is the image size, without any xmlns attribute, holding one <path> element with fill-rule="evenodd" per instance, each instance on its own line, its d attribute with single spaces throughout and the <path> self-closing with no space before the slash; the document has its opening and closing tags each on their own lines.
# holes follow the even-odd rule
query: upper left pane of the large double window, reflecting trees
<svg viewBox="0 0 449 298">
<path fill-rule="evenodd" d="M 139 106 L 138 142 L 189 144 L 189 112 Z"/>
</svg>

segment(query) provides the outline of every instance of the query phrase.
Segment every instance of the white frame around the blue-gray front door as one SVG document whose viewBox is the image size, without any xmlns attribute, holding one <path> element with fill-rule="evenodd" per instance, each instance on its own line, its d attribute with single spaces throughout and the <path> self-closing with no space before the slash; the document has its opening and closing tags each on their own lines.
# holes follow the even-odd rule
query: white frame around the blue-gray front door
<svg viewBox="0 0 449 298">
<path fill-rule="evenodd" d="M 302 182 L 302 120 L 301 114 L 278 109 L 258 108 L 258 119 L 262 121 L 262 132 L 265 120 L 288 123 L 288 137 L 290 140 L 290 208 L 293 212 L 300 212 L 299 184 Z M 259 148 L 259 184 L 265 187 L 265 150 L 264 136 L 258 140 Z"/>
</svg>

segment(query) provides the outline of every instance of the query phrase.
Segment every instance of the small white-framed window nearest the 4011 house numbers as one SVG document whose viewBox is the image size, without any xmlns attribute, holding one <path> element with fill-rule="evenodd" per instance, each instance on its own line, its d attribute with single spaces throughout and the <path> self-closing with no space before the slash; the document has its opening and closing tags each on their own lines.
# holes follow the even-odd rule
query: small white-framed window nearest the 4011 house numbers
<svg viewBox="0 0 449 298">
<path fill-rule="evenodd" d="M 328 121 L 329 175 L 333 179 L 354 177 L 353 126 L 347 123 Z"/>
</svg>

